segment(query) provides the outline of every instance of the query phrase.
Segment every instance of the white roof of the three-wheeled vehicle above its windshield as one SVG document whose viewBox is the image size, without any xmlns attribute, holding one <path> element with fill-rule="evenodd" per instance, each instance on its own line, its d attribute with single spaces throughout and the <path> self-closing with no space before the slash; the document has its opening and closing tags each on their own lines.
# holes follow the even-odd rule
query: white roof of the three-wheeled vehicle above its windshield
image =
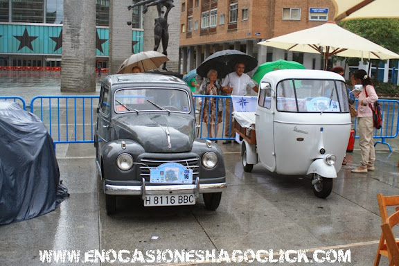
<svg viewBox="0 0 399 266">
<path fill-rule="evenodd" d="M 345 81 L 345 79 L 341 75 L 335 72 L 324 71 L 324 70 L 313 70 L 313 69 L 281 69 L 265 74 L 264 78 L 269 78 L 271 80 L 274 80 L 274 82 L 278 82 L 280 80 L 287 80 L 291 78 Z"/>
</svg>

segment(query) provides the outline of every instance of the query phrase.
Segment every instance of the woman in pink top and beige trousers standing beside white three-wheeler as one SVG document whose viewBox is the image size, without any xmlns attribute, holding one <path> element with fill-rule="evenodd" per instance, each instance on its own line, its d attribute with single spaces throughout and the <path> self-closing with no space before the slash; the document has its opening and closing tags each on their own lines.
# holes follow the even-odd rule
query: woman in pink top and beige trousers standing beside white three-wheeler
<svg viewBox="0 0 399 266">
<path fill-rule="evenodd" d="M 361 89 L 354 91 L 357 103 L 357 125 L 359 132 L 359 145 L 362 152 L 361 166 L 352 169 L 351 172 L 364 173 L 374 170 L 375 150 L 373 141 L 373 109 L 371 104 L 378 100 L 375 87 L 366 71 L 357 70 L 351 77 L 353 86 L 362 85 Z"/>
</svg>

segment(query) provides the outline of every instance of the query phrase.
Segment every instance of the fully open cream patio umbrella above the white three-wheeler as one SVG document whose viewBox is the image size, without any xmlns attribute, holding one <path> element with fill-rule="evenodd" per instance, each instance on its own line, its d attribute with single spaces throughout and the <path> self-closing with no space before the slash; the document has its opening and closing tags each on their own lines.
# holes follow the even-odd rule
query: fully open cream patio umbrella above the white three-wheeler
<svg viewBox="0 0 399 266">
<path fill-rule="evenodd" d="M 399 58 L 398 54 L 341 28 L 335 22 L 281 35 L 258 44 L 288 51 L 320 53 L 324 55 L 324 69 L 328 57 L 332 55 L 381 60 Z"/>
</svg>

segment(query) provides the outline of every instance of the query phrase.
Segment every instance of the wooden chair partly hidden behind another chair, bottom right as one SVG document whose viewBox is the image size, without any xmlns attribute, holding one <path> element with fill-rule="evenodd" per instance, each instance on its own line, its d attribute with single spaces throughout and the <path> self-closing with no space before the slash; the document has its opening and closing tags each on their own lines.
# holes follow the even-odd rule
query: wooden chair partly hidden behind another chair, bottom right
<svg viewBox="0 0 399 266">
<path fill-rule="evenodd" d="M 378 194 L 377 200 L 378 206 L 380 207 L 381 222 L 382 224 L 385 224 L 388 218 L 387 206 L 396 206 L 396 211 L 399 211 L 399 195 L 384 197 L 384 195 Z M 399 245 L 399 242 L 396 242 L 396 244 Z M 374 266 L 378 266 L 380 264 L 381 255 L 388 257 L 388 250 L 387 244 L 385 243 L 384 233 L 381 233 L 380 243 L 378 244 L 377 254 L 375 255 Z"/>
</svg>

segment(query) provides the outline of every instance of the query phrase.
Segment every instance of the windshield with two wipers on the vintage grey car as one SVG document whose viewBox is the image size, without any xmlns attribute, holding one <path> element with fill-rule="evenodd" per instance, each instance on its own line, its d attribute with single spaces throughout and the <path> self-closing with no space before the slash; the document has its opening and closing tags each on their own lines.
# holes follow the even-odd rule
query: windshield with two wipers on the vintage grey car
<svg viewBox="0 0 399 266">
<path fill-rule="evenodd" d="M 184 89 L 118 89 L 114 108 L 125 112 L 190 112 L 190 98 Z"/>
</svg>

